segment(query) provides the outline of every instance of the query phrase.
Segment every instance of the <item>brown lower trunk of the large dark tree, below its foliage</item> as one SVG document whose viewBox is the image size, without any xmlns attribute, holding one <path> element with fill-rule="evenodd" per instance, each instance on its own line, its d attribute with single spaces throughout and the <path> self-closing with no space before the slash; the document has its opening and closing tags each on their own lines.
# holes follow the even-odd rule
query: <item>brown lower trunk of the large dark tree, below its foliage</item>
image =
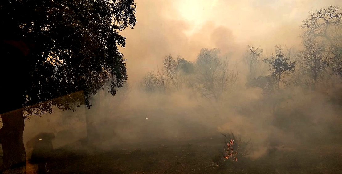
<svg viewBox="0 0 342 174">
<path fill-rule="evenodd" d="M 22 109 L 1 114 L 0 143 L 3 150 L 3 169 L 24 167 L 26 152 L 23 142 L 24 116 Z"/>
</svg>

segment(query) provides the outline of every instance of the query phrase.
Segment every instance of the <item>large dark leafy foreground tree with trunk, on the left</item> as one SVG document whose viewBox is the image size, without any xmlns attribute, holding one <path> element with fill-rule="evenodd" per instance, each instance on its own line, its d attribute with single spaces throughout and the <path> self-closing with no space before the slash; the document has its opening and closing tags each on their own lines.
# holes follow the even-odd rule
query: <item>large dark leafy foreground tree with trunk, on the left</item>
<svg viewBox="0 0 342 174">
<path fill-rule="evenodd" d="M 134 0 L 0 2 L 6 33 L 0 41 L 1 83 L 6 84 L 1 86 L 0 143 L 6 169 L 25 165 L 24 111 L 89 108 L 88 99 L 104 81 L 115 95 L 127 79 L 126 59 L 118 50 L 126 38 L 119 32 L 134 27 L 135 8 Z M 83 93 L 53 100 L 78 91 Z"/>
</svg>

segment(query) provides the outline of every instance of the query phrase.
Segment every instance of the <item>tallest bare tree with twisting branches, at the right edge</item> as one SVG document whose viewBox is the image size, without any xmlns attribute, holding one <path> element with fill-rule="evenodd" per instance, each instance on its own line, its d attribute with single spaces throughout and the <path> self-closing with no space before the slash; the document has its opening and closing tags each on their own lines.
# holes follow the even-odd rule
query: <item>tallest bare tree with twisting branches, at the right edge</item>
<svg viewBox="0 0 342 174">
<path fill-rule="evenodd" d="M 327 6 L 319 10 L 310 11 L 310 16 L 301 26 L 305 29 L 303 35 L 321 39 L 329 48 L 329 59 L 325 61 L 334 74 L 342 77 L 342 23 L 341 8 Z"/>
</svg>

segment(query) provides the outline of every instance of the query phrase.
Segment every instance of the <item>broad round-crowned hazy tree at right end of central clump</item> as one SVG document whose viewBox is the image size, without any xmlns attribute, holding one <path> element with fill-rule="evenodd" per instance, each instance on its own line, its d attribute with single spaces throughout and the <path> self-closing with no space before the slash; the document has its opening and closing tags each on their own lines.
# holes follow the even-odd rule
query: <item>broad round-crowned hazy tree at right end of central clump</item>
<svg viewBox="0 0 342 174">
<path fill-rule="evenodd" d="M 218 49 L 203 48 L 195 61 L 195 73 L 190 86 L 203 97 L 218 101 L 236 82 L 237 73 L 228 67 L 228 59 L 218 57 Z"/>
</svg>

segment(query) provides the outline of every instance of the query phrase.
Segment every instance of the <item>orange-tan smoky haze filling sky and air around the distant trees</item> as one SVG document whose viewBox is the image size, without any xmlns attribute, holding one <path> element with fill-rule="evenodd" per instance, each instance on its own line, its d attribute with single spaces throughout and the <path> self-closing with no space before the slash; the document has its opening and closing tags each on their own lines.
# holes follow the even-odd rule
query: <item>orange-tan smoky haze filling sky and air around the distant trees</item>
<svg viewBox="0 0 342 174">
<path fill-rule="evenodd" d="M 334 135 L 341 133 L 341 109 L 331 98 L 340 95 L 339 85 L 324 87 L 320 93 L 292 90 L 295 99 L 280 113 L 284 119 L 274 118 L 271 101 L 261 89 L 245 86 L 248 45 L 260 45 L 262 59 L 274 54 L 279 44 L 300 50 L 303 19 L 309 11 L 330 4 L 342 6 L 339 0 L 137 0 L 138 23 L 134 29 L 122 31 L 127 40 L 126 47 L 120 48 L 128 59 L 127 86 L 115 97 L 105 89 L 92 100 L 90 113 L 103 137 L 97 146 L 110 149 L 159 140 L 180 142 L 233 131 L 251 138 L 252 157 L 260 157 L 273 141 L 298 146 L 317 138 L 338 140 Z M 142 90 L 143 77 L 152 70 L 161 72 L 166 56 L 193 62 L 202 48 L 220 49 L 220 58 L 228 58 L 229 68 L 237 74 L 219 102 L 198 97 L 191 88 L 166 94 Z M 261 64 L 259 75 L 267 75 L 267 69 Z M 40 132 L 55 133 L 55 148 L 82 139 L 87 135 L 85 112 L 83 106 L 75 113 L 56 110 L 42 118 L 31 117 L 24 141 Z"/>
</svg>

